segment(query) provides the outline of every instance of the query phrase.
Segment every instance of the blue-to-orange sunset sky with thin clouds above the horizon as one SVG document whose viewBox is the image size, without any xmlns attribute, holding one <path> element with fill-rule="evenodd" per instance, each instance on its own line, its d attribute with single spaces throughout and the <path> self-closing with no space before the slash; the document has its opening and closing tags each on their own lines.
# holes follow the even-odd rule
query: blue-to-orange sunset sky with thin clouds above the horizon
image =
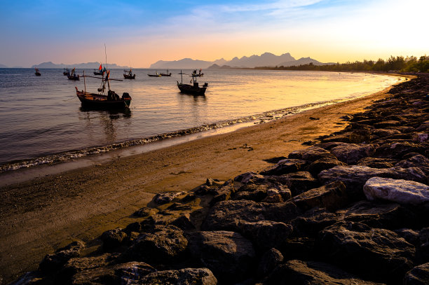
<svg viewBox="0 0 429 285">
<path fill-rule="evenodd" d="M 428 0 L 0 1 L 0 64 L 429 55 Z"/>
</svg>

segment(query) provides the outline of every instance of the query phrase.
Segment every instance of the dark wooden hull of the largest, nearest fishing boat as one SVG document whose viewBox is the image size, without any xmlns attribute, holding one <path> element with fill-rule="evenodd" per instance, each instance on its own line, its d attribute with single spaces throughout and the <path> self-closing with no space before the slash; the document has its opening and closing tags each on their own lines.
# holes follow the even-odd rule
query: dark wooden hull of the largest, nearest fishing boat
<svg viewBox="0 0 429 285">
<path fill-rule="evenodd" d="M 131 97 L 120 98 L 116 100 L 107 99 L 106 95 L 100 95 L 90 92 L 79 91 L 76 88 L 76 96 L 81 101 L 82 106 L 90 109 L 127 109 L 131 104 Z"/>
</svg>

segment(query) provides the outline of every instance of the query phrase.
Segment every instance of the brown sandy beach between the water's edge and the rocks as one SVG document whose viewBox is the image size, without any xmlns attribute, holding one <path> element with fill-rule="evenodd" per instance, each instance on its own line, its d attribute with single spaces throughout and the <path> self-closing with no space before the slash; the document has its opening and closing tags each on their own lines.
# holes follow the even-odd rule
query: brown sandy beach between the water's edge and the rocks
<svg viewBox="0 0 429 285">
<path fill-rule="evenodd" d="M 211 177 L 226 181 L 260 171 L 269 160 L 342 130 L 388 90 L 109 163 L 0 188 L 0 283 L 35 270 L 46 253 L 135 220 L 156 193 L 191 190 Z M 94 242 L 96 246 L 96 242 Z"/>
</svg>

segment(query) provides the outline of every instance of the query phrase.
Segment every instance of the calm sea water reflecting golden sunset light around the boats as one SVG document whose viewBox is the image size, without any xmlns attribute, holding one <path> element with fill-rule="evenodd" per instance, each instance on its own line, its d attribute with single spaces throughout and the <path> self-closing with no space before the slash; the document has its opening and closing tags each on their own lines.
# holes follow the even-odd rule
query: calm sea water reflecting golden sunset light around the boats
<svg viewBox="0 0 429 285">
<path fill-rule="evenodd" d="M 62 69 L 41 69 L 41 76 L 34 69 L 0 69 L 0 172 L 143 144 L 177 130 L 228 125 L 267 111 L 360 97 L 398 81 L 337 72 L 204 70 L 199 82 L 209 88 L 205 97 L 193 97 L 178 92 L 179 71 L 147 76 L 154 72 L 135 69 L 135 80 L 112 81 L 111 89 L 130 93 L 132 103 L 130 111 L 109 112 L 82 109 L 74 86 L 83 89 L 83 78 L 69 81 Z M 111 78 L 122 74 L 114 69 Z M 99 86 L 99 79 L 86 79 L 87 91 Z"/>
</svg>

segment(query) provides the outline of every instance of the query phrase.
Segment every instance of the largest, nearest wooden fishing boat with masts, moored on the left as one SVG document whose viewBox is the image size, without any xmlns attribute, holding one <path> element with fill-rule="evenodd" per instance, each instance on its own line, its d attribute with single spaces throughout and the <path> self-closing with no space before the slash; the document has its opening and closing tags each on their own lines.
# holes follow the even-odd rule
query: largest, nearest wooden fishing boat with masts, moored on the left
<svg viewBox="0 0 429 285">
<path fill-rule="evenodd" d="M 91 108 L 91 109 L 105 109 L 105 110 L 114 110 L 114 109 L 128 109 L 131 104 L 131 97 L 127 92 L 123 92 L 122 97 L 116 94 L 113 90 L 110 90 L 110 81 L 122 81 L 121 79 L 109 78 L 110 71 L 106 71 L 106 76 L 104 78 L 95 77 L 95 76 L 85 76 L 85 71 L 83 71 L 83 85 L 84 90 L 79 91 L 76 88 L 76 95 L 81 101 L 82 106 Z M 100 88 L 97 89 L 97 93 L 86 92 L 86 77 L 100 78 L 102 83 Z M 107 83 L 107 84 L 106 84 Z M 106 86 L 107 85 L 107 86 Z"/>
</svg>

